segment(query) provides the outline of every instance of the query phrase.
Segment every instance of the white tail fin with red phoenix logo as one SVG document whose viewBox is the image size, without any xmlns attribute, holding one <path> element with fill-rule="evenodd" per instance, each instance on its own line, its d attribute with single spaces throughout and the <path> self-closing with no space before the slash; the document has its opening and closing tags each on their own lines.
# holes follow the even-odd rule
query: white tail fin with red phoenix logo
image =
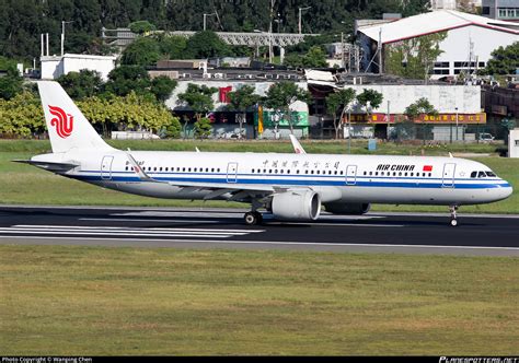
<svg viewBox="0 0 519 363">
<path fill-rule="evenodd" d="M 58 82 L 39 81 L 38 90 L 53 152 L 71 149 L 112 150 Z"/>
</svg>

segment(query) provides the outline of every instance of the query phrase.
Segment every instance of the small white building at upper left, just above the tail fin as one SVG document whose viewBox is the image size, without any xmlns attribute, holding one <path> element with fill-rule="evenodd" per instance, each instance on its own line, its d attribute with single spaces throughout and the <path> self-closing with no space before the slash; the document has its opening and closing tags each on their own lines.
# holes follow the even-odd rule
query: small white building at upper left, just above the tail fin
<svg viewBox="0 0 519 363">
<path fill-rule="evenodd" d="M 79 72 L 82 69 L 97 71 L 101 79 L 106 81 L 108 73 L 115 68 L 115 56 L 71 55 L 42 56 L 42 79 L 55 80 L 69 72 Z"/>
</svg>

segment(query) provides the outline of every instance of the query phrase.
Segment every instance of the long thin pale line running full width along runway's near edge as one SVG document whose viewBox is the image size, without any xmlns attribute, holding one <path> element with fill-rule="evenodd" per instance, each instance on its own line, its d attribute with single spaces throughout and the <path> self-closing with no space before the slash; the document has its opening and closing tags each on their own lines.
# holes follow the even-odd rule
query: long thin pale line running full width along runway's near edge
<svg viewBox="0 0 519 363">
<path fill-rule="evenodd" d="M 0 238 L 24 238 L 24 236 L 2 236 Z M 26 238 L 26 237 L 25 237 Z M 145 238 L 100 238 L 100 237 L 47 237 L 30 236 L 34 239 L 76 239 L 76 241 L 129 241 L 129 242 L 175 242 L 175 243 L 209 243 L 209 244 L 244 244 L 244 245 L 300 245 L 300 246 L 341 246 L 341 247 L 400 247 L 400 248 L 429 248 L 429 249 L 496 249 L 496 250 L 517 250 L 519 247 L 491 247 L 491 246 L 445 246 L 445 245 L 390 245 L 390 244 L 356 244 L 356 243 L 327 243 L 327 242 L 282 242 L 282 241 L 221 241 L 221 239 L 145 239 Z"/>
</svg>

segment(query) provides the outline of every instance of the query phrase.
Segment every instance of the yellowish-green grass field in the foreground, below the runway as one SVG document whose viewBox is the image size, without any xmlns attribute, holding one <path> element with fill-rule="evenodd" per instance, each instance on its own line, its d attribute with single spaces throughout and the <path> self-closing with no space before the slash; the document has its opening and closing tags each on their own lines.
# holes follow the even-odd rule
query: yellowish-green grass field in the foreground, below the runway
<svg viewBox="0 0 519 363">
<path fill-rule="evenodd" d="M 512 355 L 517 258 L 0 246 L 4 355 Z"/>
</svg>

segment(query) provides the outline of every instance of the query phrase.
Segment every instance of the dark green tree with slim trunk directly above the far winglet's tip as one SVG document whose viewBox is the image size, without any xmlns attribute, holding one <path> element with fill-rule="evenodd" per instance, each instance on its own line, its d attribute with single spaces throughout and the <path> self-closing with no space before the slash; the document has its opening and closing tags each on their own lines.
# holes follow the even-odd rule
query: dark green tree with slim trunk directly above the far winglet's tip
<svg viewBox="0 0 519 363">
<path fill-rule="evenodd" d="M 311 102 L 311 95 L 307 90 L 301 90 L 295 82 L 279 82 L 273 84 L 266 94 L 265 106 L 281 112 L 293 133 L 293 121 L 290 105 L 296 101 Z"/>
</svg>

